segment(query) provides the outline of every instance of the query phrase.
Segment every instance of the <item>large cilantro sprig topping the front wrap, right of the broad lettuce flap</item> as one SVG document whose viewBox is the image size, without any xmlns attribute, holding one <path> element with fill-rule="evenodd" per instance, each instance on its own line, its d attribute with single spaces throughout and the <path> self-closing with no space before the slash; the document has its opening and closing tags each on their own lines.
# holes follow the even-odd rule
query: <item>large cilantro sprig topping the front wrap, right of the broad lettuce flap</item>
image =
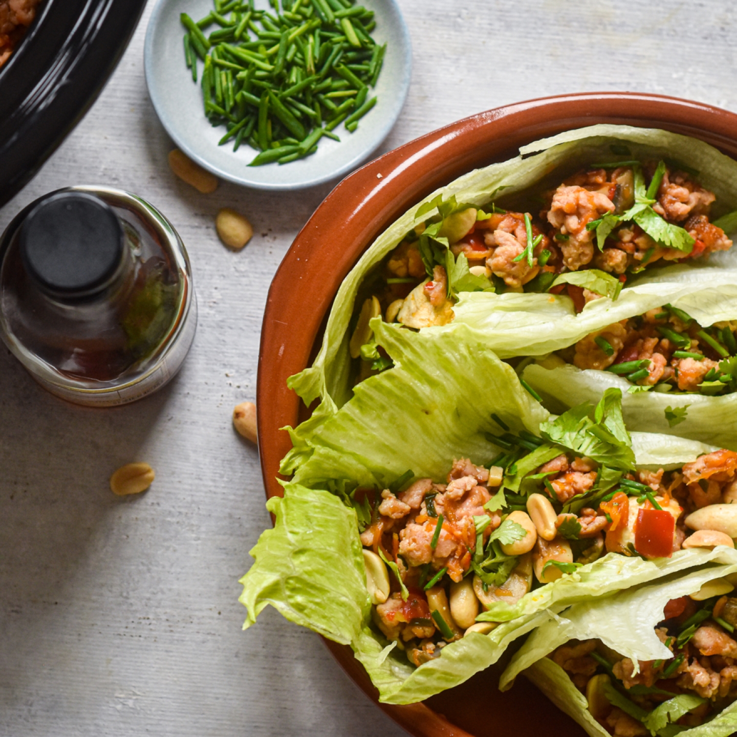
<svg viewBox="0 0 737 737">
<path fill-rule="evenodd" d="M 622 419 L 622 392 L 618 388 L 607 389 L 593 413 L 590 403 L 584 402 L 552 422 L 543 422 L 540 432 L 552 443 L 609 467 L 635 468 L 632 441 Z"/>
</svg>

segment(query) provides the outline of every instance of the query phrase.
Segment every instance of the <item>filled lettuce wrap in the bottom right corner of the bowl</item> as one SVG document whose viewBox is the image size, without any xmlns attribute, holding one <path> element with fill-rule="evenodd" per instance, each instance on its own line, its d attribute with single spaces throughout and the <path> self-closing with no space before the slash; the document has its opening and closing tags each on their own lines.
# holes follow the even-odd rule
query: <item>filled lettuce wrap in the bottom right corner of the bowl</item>
<svg viewBox="0 0 737 737">
<path fill-rule="evenodd" d="M 685 576 L 570 607 L 532 633 L 500 688 L 510 688 L 522 672 L 592 737 L 612 730 L 653 737 L 733 734 L 737 693 L 729 666 L 719 666 L 720 653 L 737 650 L 730 637 L 737 624 L 730 583 L 737 552 L 714 548 L 710 558 Z"/>
</svg>

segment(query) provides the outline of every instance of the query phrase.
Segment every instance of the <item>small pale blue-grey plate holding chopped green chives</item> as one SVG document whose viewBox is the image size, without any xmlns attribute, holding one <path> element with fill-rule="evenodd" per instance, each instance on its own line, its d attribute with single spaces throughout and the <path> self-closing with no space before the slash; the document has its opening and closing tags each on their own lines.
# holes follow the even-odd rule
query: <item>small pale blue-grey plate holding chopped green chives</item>
<svg viewBox="0 0 737 737">
<path fill-rule="evenodd" d="M 158 0 L 146 32 L 144 68 L 148 92 L 167 133 L 175 144 L 213 174 L 257 189 L 302 189 L 345 175 L 385 139 L 402 110 L 410 84 L 412 49 L 409 32 L 394 0 L 364 0 L 376 13 L 377 43 L 386 43 L 384 66 L 374 94 L 377 104 L 354 133 L 335 129 L 340 142 L 323 137 L 312 156 L 289 164 L 248 167 L 256 152 L 247 144 L 235 153 L 233 143 L 218 146 L 225 127 L 213 128 L 205 117 L 199 81 L 184 63 L 184 27 L 180 13 L 197 21 L 213 9 L 212 0 Z M 268 7 L 265 1 L 256 7 Z M 198 77 L 202 74 L 199 62 Z"/>
</svg>

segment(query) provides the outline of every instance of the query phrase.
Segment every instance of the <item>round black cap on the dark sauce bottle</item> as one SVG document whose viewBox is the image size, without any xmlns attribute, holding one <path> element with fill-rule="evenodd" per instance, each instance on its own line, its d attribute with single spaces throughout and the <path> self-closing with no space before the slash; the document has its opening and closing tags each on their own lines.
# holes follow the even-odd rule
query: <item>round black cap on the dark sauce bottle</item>
<svg viewBox="0 0 737 737">
<path fill-rule="evenodd" d="M 84 192 L 43 198 L 21 226 L 19 245 L 29 276 L 44 292 L 80 299 L 110 284 L 125 235 L 113 209 Z"/>
</svg>

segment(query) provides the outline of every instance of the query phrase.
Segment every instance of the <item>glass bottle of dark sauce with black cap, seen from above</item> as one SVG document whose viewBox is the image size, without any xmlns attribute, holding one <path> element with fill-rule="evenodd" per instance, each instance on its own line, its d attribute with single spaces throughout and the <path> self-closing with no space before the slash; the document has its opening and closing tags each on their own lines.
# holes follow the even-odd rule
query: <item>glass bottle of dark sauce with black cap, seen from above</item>
<svg viewBox="0 0 737 737">
<path fill-rule="evenodd" d="M 184 244 L 130 192 L 57 190 L 0 238 L 0 335 L 58 397 L 113 406 L 156 391 L 181 368 L 196 324 Z"/>
</svg>

